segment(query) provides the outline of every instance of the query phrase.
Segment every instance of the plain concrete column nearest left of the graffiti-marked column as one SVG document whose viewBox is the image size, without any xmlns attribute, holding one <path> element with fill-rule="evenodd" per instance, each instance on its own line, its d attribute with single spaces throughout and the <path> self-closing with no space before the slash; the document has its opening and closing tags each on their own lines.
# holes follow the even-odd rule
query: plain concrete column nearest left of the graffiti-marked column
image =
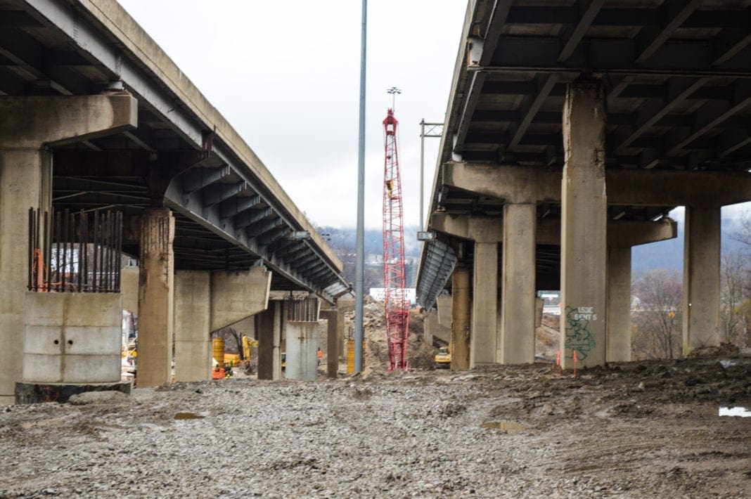
<svg viewBox="0 0 751 499">
<path fill-rule="evenodd" d="M 535 203 L 503 206 L 502 364 L 535 362 L 536 221 Z"/>
</svg>

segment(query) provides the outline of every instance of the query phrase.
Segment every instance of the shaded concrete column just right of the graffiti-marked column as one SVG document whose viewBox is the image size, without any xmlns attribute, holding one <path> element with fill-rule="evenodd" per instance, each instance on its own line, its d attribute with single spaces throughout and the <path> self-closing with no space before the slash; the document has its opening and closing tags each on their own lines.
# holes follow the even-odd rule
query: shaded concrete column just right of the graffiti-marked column
<svg viewBox="0 0 751 499">
<path fill-rule="evenodd" d="M 605 360 L 631 360 L 631 248 L 608 248 L 608 338 Z"/>
</svg>

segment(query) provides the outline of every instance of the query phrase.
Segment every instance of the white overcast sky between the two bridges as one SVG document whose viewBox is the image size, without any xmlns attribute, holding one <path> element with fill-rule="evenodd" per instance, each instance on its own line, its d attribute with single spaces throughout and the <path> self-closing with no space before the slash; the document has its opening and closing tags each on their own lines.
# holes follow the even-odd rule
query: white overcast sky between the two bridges
<svg viewBox="0 0 751 499">
<path fill-rule="evenodd" d="M 360 0 L 119 0 L 294 203 L 354 227 Z M 366 227 L 382 224 L 382 120 L 397 86 L 404 217 L 418 224 L 421 119 L 443 122 L 466 0 L 368 2 Z M 425 191 L 439 139 L 425 141 Z"/>
</svg>

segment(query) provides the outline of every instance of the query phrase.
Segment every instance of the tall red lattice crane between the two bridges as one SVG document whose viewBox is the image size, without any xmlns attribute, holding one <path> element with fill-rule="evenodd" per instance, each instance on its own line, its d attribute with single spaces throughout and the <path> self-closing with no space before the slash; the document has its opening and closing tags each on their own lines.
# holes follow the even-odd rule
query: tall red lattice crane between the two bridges
<svg viewBox="0 0 751 499">
<path fill-rule="evenodd" d="M 383 173 L 383 281 L 385 287 L 388 371 L 407 368 L 409 301 L 404 292 L 404 220 L 402 185 L 397 152 L 397 125 L 389 109 L 383 127 L 386 132 Z"/>
</svg>

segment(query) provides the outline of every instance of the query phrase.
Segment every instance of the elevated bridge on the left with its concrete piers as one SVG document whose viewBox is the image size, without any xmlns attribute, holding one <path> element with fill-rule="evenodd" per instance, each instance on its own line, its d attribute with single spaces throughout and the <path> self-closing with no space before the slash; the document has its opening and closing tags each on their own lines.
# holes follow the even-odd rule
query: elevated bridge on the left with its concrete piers
<svg viewBox="0 0 751 499">
<path fill-rule="evenodd" d="M 47 261 L 62 242 L 45 222 L 35 244 L 30 208 L 122 212 L 116 250 L 138 275 L 122 293 L 28 291 L 32 249 Z M 335 305 L 350 290 L 261 160 L 114 0 L 0 2 L 0 282 L 0 403 L 22 380 L 119 380 L 122 295 L 139 313 L 138 380 L 154 386 L 173 340 L 177 379 L 206 379 L 210 331 L 261 313 L 262 375 L 278 377 L 287 305 L 270 292 Z"/>
</svg>

